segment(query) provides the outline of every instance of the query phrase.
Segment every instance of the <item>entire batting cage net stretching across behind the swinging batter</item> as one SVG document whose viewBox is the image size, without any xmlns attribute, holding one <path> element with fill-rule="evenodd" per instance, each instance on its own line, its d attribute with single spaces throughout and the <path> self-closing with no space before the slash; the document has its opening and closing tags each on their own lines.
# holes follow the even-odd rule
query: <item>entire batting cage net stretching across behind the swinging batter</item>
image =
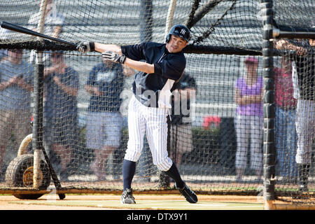
<svg viewBox="0 0 315 224">
<path fill-rule="evenodd" d="M 185 73 L 172 92 L 169 156 L 197 193 L 261 196 L 266 3 L 273 3 L 274 27 L 314 26 L 311 0 L 3 0 L 0 20 L 74 44 L 165 43 L 172 25 L 186 25 L 192 38 L 184 49 Z M 0 31 L 1 189 L 32 188 L 33 154 L 43 148 L 50 162 L 41 155 L 37 188 L 53 186 L 51 163 L 62 189 L 122 190 L 127 109 L 137 71 L 103 61 L 97 52 L 82 54 L 73 45 Z M 297 46 L 306 52 L 298 55 L 297 49 L 286 50 L 283 41 L 297 40 L 274 38 L 279 49 L 273 58 L 272 181 L 276 198 L 314 204 L 314 45 L 304 38 Z M 294 79 L 293 73 L 307 78 Z M 302 98 L 293 95 L 293 80 L 302 87 Z M 146 137 L 140 144 L 132 188 L 174 189 L 172 179 L 153 164 Z M 295 199 L 301 192 L 298 167 L 307 170 L 302 172 L 307 200 Z"/>
</svg>

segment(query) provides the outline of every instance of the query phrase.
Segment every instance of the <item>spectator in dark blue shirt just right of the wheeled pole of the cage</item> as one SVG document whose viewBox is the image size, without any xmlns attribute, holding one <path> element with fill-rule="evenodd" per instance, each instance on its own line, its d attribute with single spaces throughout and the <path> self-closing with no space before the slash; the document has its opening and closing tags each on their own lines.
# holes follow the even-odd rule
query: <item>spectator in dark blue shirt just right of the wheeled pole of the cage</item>
<svg viewBox="0 0 315 224">
<path fill-rule="evenodd" d="M 62 51 L 52 52 L 52 66 L 44 69 L 44 140 L 61 160 L 60 178 L 67 179 L 71 152 L 78 144 L 78 72 L 67 66 Z"/>
</svg>

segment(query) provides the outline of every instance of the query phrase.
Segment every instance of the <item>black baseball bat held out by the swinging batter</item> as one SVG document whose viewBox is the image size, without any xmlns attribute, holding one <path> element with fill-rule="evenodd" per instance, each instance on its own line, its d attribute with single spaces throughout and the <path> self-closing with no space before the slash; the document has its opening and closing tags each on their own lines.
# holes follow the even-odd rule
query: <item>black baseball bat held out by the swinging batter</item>
<svg viewBox="0 0 315 224">
<path fill-rule="evenodd" d="M 59 43 L 64 43 L 66 45 L 71 45 L 73 47 L 77 46 L 76 43 L 71 43 L 69 41 L 64 41 L 64 40 L 62 40 L 60 38 L 55 38 L 55 37 L 52 37 L 52 36 L 41 34 L 41 33 L 38 33 L 36 31 L 33 31 L 31 29 L 27 29 L 25 27 L 20 27 L 18 25 L 13 24 L 13 23 L 2 21 L 1 22 L 1 27 L 4 28 L 4 29 L 10 29 L 10 30 L 13 30 L 13 31 L 17 31 L 17 32 L 22 33 L 22 34 L 29 34 L 31 36 L 39 36 L 41 38 L 45 38 L 45 39 L 48 39 L 48 40 L 51 40 L 51 41 L 56 41 L 56 42 L 59 42 Z"/>
</svg>

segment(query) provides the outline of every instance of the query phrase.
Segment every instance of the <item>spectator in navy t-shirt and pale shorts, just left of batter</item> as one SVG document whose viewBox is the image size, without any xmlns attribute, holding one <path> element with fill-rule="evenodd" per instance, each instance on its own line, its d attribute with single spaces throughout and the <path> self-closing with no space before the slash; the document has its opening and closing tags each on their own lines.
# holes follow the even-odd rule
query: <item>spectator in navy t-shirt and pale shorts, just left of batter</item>
<svg viewBox="0 0 315 224">
<path fill-rule="evenodd" d="M 120 144 L 120 93 L 123 85 L 123 66 L 105 59 L 92 68 L 85 85 L 85 90 L 91 94 L 86 144 L 87 148 L 94 150 L 95 160 L 91 169 L 98 180 L 105 179 L 106 159 Z"/>
</svg>

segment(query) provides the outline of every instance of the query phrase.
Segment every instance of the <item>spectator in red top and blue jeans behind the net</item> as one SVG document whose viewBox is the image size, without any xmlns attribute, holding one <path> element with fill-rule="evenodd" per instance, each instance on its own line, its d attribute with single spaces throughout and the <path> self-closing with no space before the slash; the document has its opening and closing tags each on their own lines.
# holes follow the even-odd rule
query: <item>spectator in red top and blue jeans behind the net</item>
<svg viewBox="0 0 315 224">
<path fill-rule="evenodd" d="M 276 158 L 280 176 L 286 180 L 297 176 L 295 153 L 297 134 L 295 129 L 296 99 L 293 97 L 292 63 L 289 57 L 281 57 L 281 67 L 274 68 L 276 103 Z"/>
</svg>

